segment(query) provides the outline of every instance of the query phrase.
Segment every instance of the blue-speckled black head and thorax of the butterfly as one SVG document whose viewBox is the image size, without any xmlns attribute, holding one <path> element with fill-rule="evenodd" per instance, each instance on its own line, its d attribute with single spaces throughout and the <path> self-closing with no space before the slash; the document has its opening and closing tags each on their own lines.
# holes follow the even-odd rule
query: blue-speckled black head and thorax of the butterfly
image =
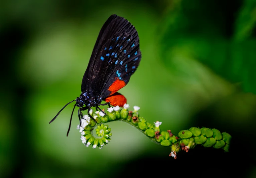
<svg viewBox="0 0 256 178">
<path fill-rule="evenodd" d="M 98 96 L 97 98 L 90 96 L 88 92 L 81 93 L 79 97 L 76 99 L 78 107 L 83 107 L 84 105 L 87 107 L 95 107 L 98 106 L 102 102 L 102 97 Z"/>
</svg>

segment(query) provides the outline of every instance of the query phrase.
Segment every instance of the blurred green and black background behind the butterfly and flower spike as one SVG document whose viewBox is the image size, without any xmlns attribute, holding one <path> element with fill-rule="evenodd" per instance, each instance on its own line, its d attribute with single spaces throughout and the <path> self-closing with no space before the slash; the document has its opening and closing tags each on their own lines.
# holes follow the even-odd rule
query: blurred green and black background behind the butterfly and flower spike
<svg viewBox="0 0 256 178">
<path fill-rule="evenodd" d="M 169 157 L 138 130 L 109 123 L 112 141 L 85 147 L 72 105 L 98 33 L 129 20 L 142 60 L 120 90 L 162 130 L 217 128 L 229 153 L 197 146 Z M 0 177 L 256 176 L 256 1 L 1 1 Z"/>
</svg>

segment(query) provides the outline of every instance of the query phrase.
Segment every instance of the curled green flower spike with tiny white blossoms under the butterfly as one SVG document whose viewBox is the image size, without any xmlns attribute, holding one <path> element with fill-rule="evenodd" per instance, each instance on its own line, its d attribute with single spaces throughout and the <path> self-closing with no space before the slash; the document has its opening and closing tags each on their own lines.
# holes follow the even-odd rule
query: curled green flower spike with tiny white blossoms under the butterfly
<svg viewBox="0 0 256 178">
<path fill-rule="evenodd" d="M 205 127 L 191 127 L 189 130 L 181 130 L 175 135 L 171 130 L 162 131 L 160 129 L 162 122 L 156 121 L 154 124 L 147 122 L 137 112 L 140 107 L 134 106 L 134 111 L 129 111 L 128 108 L 128 104 L 125 104 L 123 108 L 119 106 L 110 107 L 107 115 L 99 111 L 92 112 L 92 116 L 97 122 L 90 121 L 89 116 L 84 115 L 81 120 L 81 126 L 77 126 L 77 129 L 80 129 L 79 132 L 82 134 L 82 143 L 87 147 L 92 145 L 93 148 L 99 147 L 99 149 L 102 149 L 104 145 L 108 144 L 112 136 L 111 128 L 104 124 L 120 120 L 137 128 L 153 142 L 164 147 L 170 146 L 171 153 L 169 156 L 174 159 L 177 158 L 179 151 L 188 152 L 189 149 L 193 149 L 196 145 L 215 149 L 221 148 L 225 152 L 229 151 L 231 135 L 226 132 L 221 133 L 217 129 Z M 94 129 L 96 130 L 96 135 L 93 132 Z"/>
</svg>

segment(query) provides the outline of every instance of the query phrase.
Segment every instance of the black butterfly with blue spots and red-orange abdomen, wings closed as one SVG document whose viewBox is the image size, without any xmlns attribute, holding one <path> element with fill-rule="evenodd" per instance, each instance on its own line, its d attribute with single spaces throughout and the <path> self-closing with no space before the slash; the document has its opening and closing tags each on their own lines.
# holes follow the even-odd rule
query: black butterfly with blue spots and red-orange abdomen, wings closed
<svg viewBox="0 0 256 178">
<path fill-rule="evenodd" d="M 67 105 L 76 101 L 70 118 L 68 136 L 76 106 L 79 107 L 80 125 L 83 116 L 81 111 L 88 110 L 88 115 L 95 121 L 89 114 L 91 107 L 96 107 L 104 114 L 106 113 L 99 108 L 100 105 L 122 107 L 126 103 L 126 98 L 117 91 L 129 82 L 140 60 L 137 30 L 123 17 L 111 15 L 101 28 L 95 43 L 82 80 L 81 95 L 66 104 L 49 123 L 54 121 Z M 107 103 L 101 104 L 102 100 Z"/>
</svg>

